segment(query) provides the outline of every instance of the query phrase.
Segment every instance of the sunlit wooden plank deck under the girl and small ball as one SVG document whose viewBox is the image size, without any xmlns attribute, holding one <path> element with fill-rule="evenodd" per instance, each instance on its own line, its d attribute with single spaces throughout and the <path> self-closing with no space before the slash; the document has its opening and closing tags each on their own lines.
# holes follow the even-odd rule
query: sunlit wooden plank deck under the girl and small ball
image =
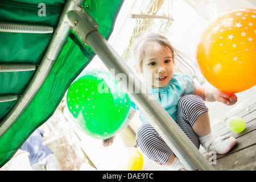
<svg viewBox="0 0 256 182">
<path fill-rule="evenodd" d="M 255 171 L 256 170 L 256 86 L 237 93 L 238 102 L 233 106 L 225 106 L 219 102 L 206 102 L 214 135 L 232 134 L 238 143 L 225 155 L 209 155 L 203 147 L 200 152 L 217 171 Z M 242 133 L 233 133 L 227 126 L 227 121 L 233 116 L 241 117 L 246 122 Z M 144 157 L 143 170 L 166 170 Z"/>
</svg>

